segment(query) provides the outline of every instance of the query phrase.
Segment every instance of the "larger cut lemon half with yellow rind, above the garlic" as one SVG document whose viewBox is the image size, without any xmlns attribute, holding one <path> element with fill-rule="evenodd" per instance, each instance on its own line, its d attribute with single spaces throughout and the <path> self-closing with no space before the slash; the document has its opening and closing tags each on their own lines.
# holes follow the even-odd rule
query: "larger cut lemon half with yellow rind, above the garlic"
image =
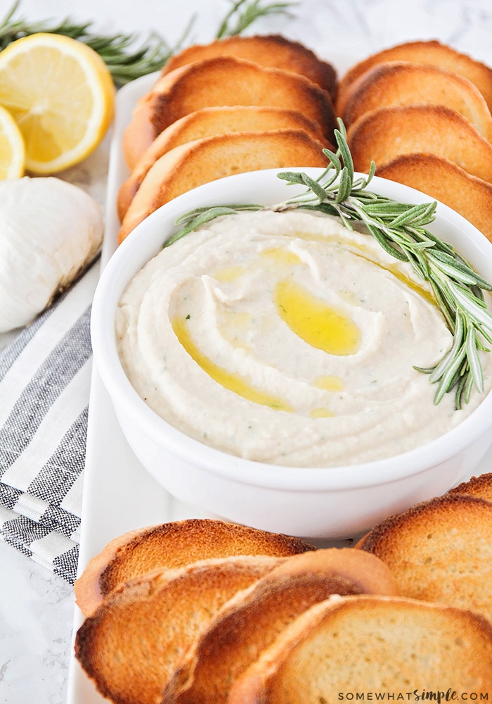
<svg viewBox="0 0 492 704">
<path fill-rule="evenodd" d="M 48 174 L 96 149 L 112 120 L 115 86 L 90 46 L 39 32 L 0 52 L 0 105 L 22 132 L 25 169 Z"/>
</svg>

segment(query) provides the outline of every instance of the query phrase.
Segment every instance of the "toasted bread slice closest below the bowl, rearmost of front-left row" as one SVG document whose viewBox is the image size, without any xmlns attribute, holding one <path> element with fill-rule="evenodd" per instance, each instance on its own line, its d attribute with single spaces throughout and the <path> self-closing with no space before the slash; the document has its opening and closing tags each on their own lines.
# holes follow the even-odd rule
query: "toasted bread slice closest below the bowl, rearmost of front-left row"
<svg viewBox="0 0 492 704">
<path fill-rule="evenodd" d="M 75 600 L 84 615 L 130 579 L 158 569 L 233 555 L 287 557 L 314 550 L 305 541 L 208 518 L 190 518 L 129 531 L 95 555 L 75 582 Z"/>
</svg>

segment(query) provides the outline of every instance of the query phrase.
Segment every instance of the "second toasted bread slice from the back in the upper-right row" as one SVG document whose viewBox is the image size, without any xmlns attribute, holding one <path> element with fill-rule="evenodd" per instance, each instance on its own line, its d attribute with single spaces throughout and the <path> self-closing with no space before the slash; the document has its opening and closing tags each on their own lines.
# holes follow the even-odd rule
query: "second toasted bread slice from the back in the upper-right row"
<svg viewBox="0 0 492 704">
<path fill-rule="evenodd" d="M 471 81 L 444 68 L 407 61 L 378 64 L 364 73 L 354 83 L 342 118 L 348 126 L 378 108 L 415 104 L 452 108 L 491 140 L 491 112 Z"/>
</svg>

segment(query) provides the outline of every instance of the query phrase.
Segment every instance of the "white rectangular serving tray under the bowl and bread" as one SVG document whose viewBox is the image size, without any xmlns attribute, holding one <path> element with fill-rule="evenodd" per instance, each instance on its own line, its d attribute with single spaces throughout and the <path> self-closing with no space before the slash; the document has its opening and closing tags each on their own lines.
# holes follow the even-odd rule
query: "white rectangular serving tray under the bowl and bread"
<svg viewBox="0 0 492 704">
<path fill-rule="evenodd" d="M 116 198 L 119 186 L 129 174 L 122 156 L 122 134 L 138 97 L 148 92 L 155 77 L 154 74 L 142 77 L 117 93 L 115 124 L 110 145 L 101 270 L 117 247 L 119 220 Z M 492 448 L 473 473 L 482 474 L 491 469 Z M 84 570 L 91 557 L 116 536 L 145 525 L 187 517 L 207 517 L 207 514 L 177 501 L 145 471 L 129 448 L 119 428 L 110 398 L 97 370 L 94 369 L 89 403 L 79 573 Z M 353 537 L 354 540 L 358 538 Z M 318 546 L 350 544 L 351 540 L 330 541 L 318 543 Z M 75 606 L 72 641 L 75 640 L 75 634 L 81 624 L 82 613 Z M 108 700 L 98 694 L 79 666 L 74 657 L 73 643 L 67 704 L 108 704 Z"/>
</svg>

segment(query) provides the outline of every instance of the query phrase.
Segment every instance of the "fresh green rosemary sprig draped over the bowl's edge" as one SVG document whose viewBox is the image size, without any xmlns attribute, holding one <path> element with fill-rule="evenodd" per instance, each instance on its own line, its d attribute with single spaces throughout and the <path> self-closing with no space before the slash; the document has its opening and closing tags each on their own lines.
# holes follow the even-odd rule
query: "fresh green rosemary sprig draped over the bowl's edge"
<svg viewBox="0 0 492 704">
<path fill-rule="evenodd" d="M 414 368 L 429 374 L 430 382 L 437 384 L 434 403 L 454 391 L 455 408 L 461 408 L 463 402 L 470 401 L 473 387 L 479 393 L 484 390 L 479 351 L 491 351 L 488 345 L 492 345 L 492 315 L 486 308 L 484 290 L 490 291 L 492 284 L 450 244 L 426 229 L 425 226 L 435 218 L 435 201 L 419 205 L 399 203 L 368 190 L 375 174 L 375 164 L 371 164 L 367 176 L 356 176 L 342 120 L 339 120 L 335 137 L 337 152 L 323 149 L 329 165 L 318 179 L 314 180 L 304 172 L 278 174 L 287 184 L 305 186 L 306 191 L 302 194 L 273 206 L 251 203 L 196 208 L 176 220 L 176 225 L 181 227 L 164 246 L 171 245 L 205 222 L 240 210 L 318 210 L 337 215 L 349 230 L 354 229 L 354 222 L 362 222 L 387 253 L 410 263 L 417 275 L 429 282 L 453 334 L 453 344 L 434 367 Z"/>
</svg>

